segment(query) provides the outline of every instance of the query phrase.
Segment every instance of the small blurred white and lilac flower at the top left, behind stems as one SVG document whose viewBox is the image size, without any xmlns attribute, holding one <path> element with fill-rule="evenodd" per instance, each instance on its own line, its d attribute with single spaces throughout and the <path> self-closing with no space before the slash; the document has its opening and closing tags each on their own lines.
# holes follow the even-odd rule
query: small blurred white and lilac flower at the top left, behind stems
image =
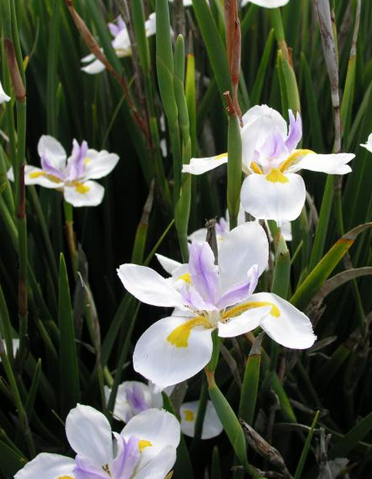
<svg viewBox="0 0 372 479">
<path fill-rule="evenodd" d="M 112 40 L 111 44 L 118 58 L 124 58 L 124 56 L 131 56 L 131 40 L 129 38 L 128 29 L 123 18 L 121 16 L 117 17 L 117 20 L 115 20 L 115 22 L 109 23 L 108 27 L 110 29 L 111 35 L 114 37 L 114 40 Z M 146 22 L 144 23 L 144 29 L 146 31 L 147 37 L 155 34 L 155 13 L 151 13 L 149 15 L 148 20 L 146 20 Z M 96 75 L 96 73 L 101 73 L 103 70 L 105 70 L 105 66 L 103 65 L 103 63 L 96 59 L 96 56 L 94 56 L 94 54 L 84 56 L 84 58 L 82 59 L 82 63 L 89 63 L 89 65 L 83 66 L 82 70 L 85 73 L 89 73 L 91 75 Z"/>
</svg>

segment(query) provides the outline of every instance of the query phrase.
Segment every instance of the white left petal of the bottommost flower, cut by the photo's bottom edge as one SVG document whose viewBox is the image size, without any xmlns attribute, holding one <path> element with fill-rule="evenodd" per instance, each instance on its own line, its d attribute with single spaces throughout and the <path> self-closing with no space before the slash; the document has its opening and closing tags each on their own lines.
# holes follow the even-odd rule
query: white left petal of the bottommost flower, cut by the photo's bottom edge
<svg viewBox="0 0 372 479">
<path fill-rule="evenodd" d="M 18 471 L 14 479 L 75 479 L 75 461 L 59 454 L 38 454 Z"/>
</svg>

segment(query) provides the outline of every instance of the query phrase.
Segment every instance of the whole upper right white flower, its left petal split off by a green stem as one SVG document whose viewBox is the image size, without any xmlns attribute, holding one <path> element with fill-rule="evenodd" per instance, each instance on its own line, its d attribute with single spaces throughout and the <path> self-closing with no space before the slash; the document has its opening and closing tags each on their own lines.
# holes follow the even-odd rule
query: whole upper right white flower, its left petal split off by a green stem
<svg viewBox="0 0 372 479">
<path fill-rule="evenodd" d="M 267 105 L 255 106 L 243 116 L 241 129 L 243 171 L 241 204 L 260 220 L 292 221 L 299 217 L 306 199 L 300 169 L 328 174 L 351 172 L 347 165 L 351 153 L 318 155 L 296 149 L 302 137 L 302 121 L 289 112 L 290 126 L 283 116 Z M 228 154 L 210 158 L 191 158 L 183 172 L 202 174 L 228 162 Z"/>
</svg>

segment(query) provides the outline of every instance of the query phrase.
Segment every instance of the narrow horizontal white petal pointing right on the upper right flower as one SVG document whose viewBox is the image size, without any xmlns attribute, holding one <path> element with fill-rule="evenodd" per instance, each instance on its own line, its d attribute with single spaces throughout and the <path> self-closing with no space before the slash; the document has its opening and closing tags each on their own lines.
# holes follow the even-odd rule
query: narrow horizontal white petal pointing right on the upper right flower
<svg viewBox="0 0 372 479">
<path fill-rule="evenodd" d="M 299 169 L 308 169 L 311 172 L 322 172 L 328 174 L 350 173 L 351 168 L 347 165 L 355 155 L 352 153 L 332 153 L 331 155 L 317 155 L 308 153 L 295 165 Z"/>
</svg>

